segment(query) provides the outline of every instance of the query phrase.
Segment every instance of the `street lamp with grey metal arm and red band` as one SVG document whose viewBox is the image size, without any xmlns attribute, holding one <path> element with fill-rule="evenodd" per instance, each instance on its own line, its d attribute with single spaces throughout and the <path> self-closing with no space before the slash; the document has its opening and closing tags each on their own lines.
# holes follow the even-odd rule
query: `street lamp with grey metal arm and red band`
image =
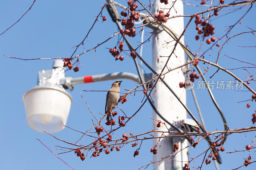
<svg viewBox="0 0 256 170">
<path fill-rule="evenodd" d="M 145 74 L 149 80 L 152 74 Z M 65 128 L 72 103 L 71 95 L 65 90 L 83 83 L 112 79 L 129 79 L 139 82 L 138 75 L 128 72 L 114 72 L 85 77 L 65 77 L 63 60 L 55 60 L 52 70 L 38 72 L 38 84 L 23 96 L 27 122 L 32 129 L 56 133 Z"/>
</svg>

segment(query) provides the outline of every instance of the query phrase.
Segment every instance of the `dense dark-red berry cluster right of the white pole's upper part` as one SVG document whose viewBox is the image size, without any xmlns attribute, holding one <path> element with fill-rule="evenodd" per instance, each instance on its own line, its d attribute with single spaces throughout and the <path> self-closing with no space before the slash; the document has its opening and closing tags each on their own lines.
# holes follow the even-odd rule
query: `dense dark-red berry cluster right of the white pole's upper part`
<svg viewBox="0 0 256 170">
<path fill-rule="evenodd" d="M 202 30 L 201 30 L 200 26 L 196 26 L 196 30 L 199 35 L 204 33 L 204 36 L 208 37 L 210 34 L 212 35 L 215 33 L 215 31 L 214 31 L 215 27 L 212 24 L 206 23 L 206 21 L 202 21 L 200 19 L 199 15 L 196 15 L 195 23 L 196 23 L 196 25 L 201 24 L 201 26 L 203 26 Z M 196 40 L 198 40 L 198 39 L 199 39 L 199 36 L 196 35 Z M 211 42 L 214 42 L 215 40 L 216 40 L 216 38 L 212 37 L 211 39 L 207 39 L 206 43 L 210 44 Z"/>
</svg>

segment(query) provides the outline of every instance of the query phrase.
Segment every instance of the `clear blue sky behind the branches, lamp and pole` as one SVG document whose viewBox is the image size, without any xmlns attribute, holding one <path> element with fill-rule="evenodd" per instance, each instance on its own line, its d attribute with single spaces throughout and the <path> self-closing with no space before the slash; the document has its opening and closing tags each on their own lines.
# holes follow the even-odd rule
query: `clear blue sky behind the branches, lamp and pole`
<svg viewBox="0 0 256 170">
<path fill-rule="evenodd" d="M 125 4 L 126 1 L 118 1 Z M 143 1 L 148 3 L 148 1 Z M 190 1 L 189 1 L 190 2 Z M 228 3 L 229 1 L 227 1 Z M 230 1 L 231 2 L 231 1 Z M 33 3 L 32 0 L 24 1 L 2 1 L 0 3 L 0 32 L 2 33 L 6 28 L 16 22 L 20 16 L 27 11 L 29 6 Z M 37 72 L 40 70 L 48 70 L 52 67 L 53 60 L 31 60 L 23 61 L 17 59 L 10 59 L 4 56 L 16 56 L 20 58 L 32 59 L 38 57 L 69 57 L 75 45 L 79 44 L 84 39 L 92 23 L 99 11 L 100 7 L 105 1 L 39 1 L 37 0 L 32 9 L 10 30 L 0 36 L 0 56 L 1 57 L 1 72 L 2 83 L 0 83 L 0 131 L 1 131 L 1 150 L 0 150 L 0 169 L 69 169 L 69 167 L 57 159 L 51 152 L 49 152 L 36 138 L 39 138 L 46 144 L 53 152 L 59 153 L 54 148 L 55 145 L 68 146 L 53 137 L 38 133 L 28 127 L 24 104 L 22 96 L 29 89 L 36 85 Z M 190 3 L 198 3 L 191 1 Z M 208 2 L 209 3 L 209 2 Z M 214 2 L 216 3 L 216 2 Z M 244 13 L 249 6 L 244 7 L 238 12 L 231 13 L 219 19 L 213 20 L 212 24 L 215 26 L 215 34 L 221 37 L 229 25 L 233 25 Z M 205 10 L 205 7 L 192 7 L 184 5 L 184 14 L 194 14 L 197 11 Z M 121 12 L 121 9 L 118 8 Z M 220 11 L 220 14 L 228 11 Z M 241 24 L 230 32 L 229 36 L 234 34 L 250 31 L 246 26 L 255 30 L 256 24 L 252 16 L 256 13 L 255 5 L 252 10 L 242 19 Z M 88 41 L 85 41 L 84 48 L 89 49 L 97 45 L 97 43 L 104 41 L 117 31 L 116 25 L 110 19 L 106 9 L 103 10 L 103 15 L 107 17 L 105 22 L 97 22 L 92 32 L 89 34 Z M 184 19 L 184 23 L 188 18 Z M 146 31 L 150 31 L 146 28 Z M 190 49 L 196 53 L 200 47 L 199 41 L 195 41 L 195 24 L 192 23 L 185 33 L 185 41 L 188 43 Z M 130 40 L 136 45 L 136 41 L 140 41 L 137 35 Z M 82 68 L 78 72 L 67 71 L 67 77 L 81 77 L 94 74 L 111 73 L 116 71 L 127 71 L 136 74 L 134 63 L 128 55 L 123 62 L 115 61 L 108 53 L 108 49 L 117 41 L 117 37 L 111 39 L 104 46 L 97 48 L 95 57 L 94 50 L 82 55 L 79 60 Z M 220 41 L 223 44 L 224 41 Z M 232 69 L 241 66 L 250 66 L 249 64 L 240 63 L 235 60 L 228 59 L 225 54 L 240 59 L 245 62 L 255 63 L 255 48 L 241 48 L 238 46 L 256 46 L 255 36 L 250 33 L 237 36 L 231 39 L 223 48 L 219 64 L 220 66 Z M 135 46 L 134 45 L 134 46 Z M 127 48 L 127 46 L 125 45 Z M 151 48 L 144 46 L 143 56 L 151 63 Z M 209 48 L 209 45 L 203 45 L 202 50 Z M 83 52 L 85 49 L 79 48 L 77 54 Z M 213 47 L 212 51 L 207 53 L 206 59 L 214 62 L 218 54 L 219 48 Z M 118 64 L 117 64 L 118 63 Z M 202 66 L 202 64 L 200 65 Z M 201 67 L 202 69 L 202 67 Z M 255 68 L 248 69 L 255 73 Z M 210 67 L 205 74 L 206 78 L 212 76 L 216 68 Z M 150 71 L 146 69 L 146 72 Z M 239 78 L 245 80 L 245 76 L 249 74 L 245 70 L 232 70 Z M 200 80 L 200 79 L 199 79 Z M 214 82 L 234 81 L 227 73 L 219 71 L 211 80 Z M 67 126 L 74 129 L 85 131 L 92 126 L 92 115 L 86 107 L 83 99 L 80 96 L 81 92 L 88 102 L 93 113 L 103 112 L 105 106 L 106 92 L 83 92 L 83 90 L 108 90 L 112 84 L 112 80 L 105 82 L 96 82 L 91 84 L 76 85 L 72 92 L 68 91 L 73 97 L 73 103 L 70 109 Z M 129 80 L 123 80 L 122 90 L 131 89 L 136 83 Z M 251 82 L 250 86 L 255 89 L 255 83 Z M 197 98 L 204 116 L 204 121 L 207 123 L 208 130 L 222 130 L 223 125 L 216 108 L 211 102 L 211 99 L 206 90 L 196 90 Z M 243 91 L 235 90 L 218 90 L 214 89 L 213 94 L 220 105 L 228 122 L 230 129 L 243 128 L 252 126 L 252 114 L 255 110 L 255 101 L 251 103 L 250 108 L 246 108 L 246 102 L 237 103 L 239 101 L 248 100 L 251 98 L 251 92 L 245 88 Z M 133 104 L 138 104 L 143 97 L 142 94 L 137 93 L 128 102 L 122 105 L 122 109 L 130 115 L 138 109 L 132 107 Z M 191 93 L 188 92 L 187 105 L 190 110 L 197 115 L 196 107 L 192 99 Z M 99 116 L 99 115 L 98 115 Z M 127 124 L 124 129 L 120 129 L 118 133 L 124 133 L 129 130 L 132 133 L 139 134 L 140 132 L 149 131 L 152 128 L 152 109 L 146 103 L 140 112 L 133 118 L 132 123 Z M 143 122 L 141 121 L 143 120 Z M 80 134 L 65 128 L 59 133 L 54 134 L 56 137 L 70 142 L 76 142 L 80 138 Z M 250 144 L 255 136 L 255 132 L 246 134 L 234 134 L 228 137 L 224 144 L 225 151 L 243 150 L 245 145 Z M 92 139 L 84 137 L 81 143 L 87 144 Z M 134 150 L 130 146 L 124 147 L 120 152 L 111 152 L 109 155 L 101 154 L 97 158 L 87 157 L 83 162 L 75 156 L 74 153 L 66 153 L 59 155 L 61 159 L 68 162 L 75 169 L 138 169 L 140 166 L 149 163 L 152 160 L 152 154 L 149 152 L 152 147 L 152 141 L 145 141 L 140 149 L 140 155 L 133 158 Z M 194 157 L 201 153 L 207 147 L 205 141 L 201 142 L 196 148 L 190 149 L 190 157 Z M 91 154 L 91 153 L 90 153 Z M 252 160 L 254 161 L 252 154 Z M 244 159 L 248 157 L 247 152 L 233 153 L 227 155 L 221 153 L 223 164 L 220 169 L 233 169 L 241 166 Z M 196 159 L 194 166 L 201 164 L 203 158 Z M 191 162 L 192 163 L 192 162 Z M 192 165 L 192 164 L 190 164 Z M 207 169 L 214 169 L 214 165 L 210 164 L 204 166 Z M 153 169 L 148 166 L 147 169 Z M 248 166 L 247 169 L 253 169 Z"/>
</svg>

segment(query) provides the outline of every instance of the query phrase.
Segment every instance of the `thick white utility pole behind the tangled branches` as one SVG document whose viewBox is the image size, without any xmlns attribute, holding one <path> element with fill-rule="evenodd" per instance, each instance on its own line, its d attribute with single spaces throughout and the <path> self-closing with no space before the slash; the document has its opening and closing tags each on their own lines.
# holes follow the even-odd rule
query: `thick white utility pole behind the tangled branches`
<svg viewBox="0 0 256 170">
<path fill-rule="evenodd" d="M 164 11 L 164 14 L 169 11 L 171 6 L 173 5 L 172 1 L 169 1 L 169 4 L 165 5 L 164 3 L 160 3 L 159 0 L 156 0 L 152 7 L 152 14 L 159 14 L 159 10 Z M 169 8 L 169 9 L 168 9 Z M 176 13 L 177 11 L 177 13 Z M 183 15 L 183 3 L 181 0 L 175 1 L 174 8 L 172 7 L 170 11 L 170 17 L 177 16 L 177 15 Z M 178 36 L 181 35 L 181 33 L 184 30 L 184 22 L 183 17 L 177 17 L 169 19 L 165 23 L 169 28 L 172 29 Z M 166 44 L 169 42 L 168 44 Z M 173 41 L 173 39 L 170 37 L 169 34 L 167 34 L 165 31 L 159 32 L 157 31 L 153 36 L 153 68 L 156 70 L 157 73 L 160 73 L 163 69 L 168 57 L 173 50 L 173 46 L 176 41 Z M 181 42 L 184 43 L 184 37 L 181 39 Z M 178 44 L 175 49 L 175 55 L 172 55 L 167 67 L 168 68 L 174 68 L 179 65 L 182 65 L 185 63 L 185 54 L 184 50 L 181 48 L 181 46 Z M 156 56 L 165 56 L 160 58 L 155 58 Z M 155 59 L 154 59 L 155 58 Z M 164 72 L 168 71 L 167 68 L 165 68 Z M 164 80 L 166 83 L 172 88 L 172 90 L 180 97 L 180 100 L 186 104 L 186 89 L 180 88 L 179 83 L 184 82 L 185 76 L 181 69 L 176 69 L 171 71 L 170 73 L 166 74 L 164 76 Z M 154 92 L 154 90 L 153 90 Z M 167 89 L 167 87 L 161 83 L 158 82 L 156 85 L 156 93 L 153 97 L 153 100 L 155 102 L 156 109 L 166 118 L 169 120 L 169 122 L 173 121 L 180 121 L 187 118 L 187 111 L 182 107 L 180 102 L 174 97 L 174 95 Z M 162 119 L 156 115 L 156 113 L 153 111 L 153 118 L 156 120 Z M 153 129 L 159 129 L 159 130 L 166 130 L 165 126 L 162 126 L 160 128 L 156 127 L 156 122 L 153 123 Z M 167 125 L 168 128 L 171 128 L 169 125 Z M 158 132 L 157 136 L 161 136 L 162 133 Z M 165 134 L 168 135 L 168 134 Z M 160 142 L 157 144 L 157 154 L 153 156 L 153 161 L 160 160 L 161 158 L 164 158 L 170 154 L 172 154 L 173 150 L 173 142 L 177 142 L 179 138 L 162 138 Z M 158 139 L 154 139 L 153 143 L 156 145 L 158 142 Z M 188 146 L 188 141 L 180 141 L 179 143 L 179 150 L 181 148 L 185 148 Z M 184 166 L 184 162 L 180 161 L 188 161 L 188 149 L 185 149 L 179 153 L 176 154 L 175 158 L 172 158 L 171 161 L 168 158 L 164 159 L 160 162 L 160 165 L 158 163 L 153 164 L 154 170 L 182 170 Z"/>
</svg>

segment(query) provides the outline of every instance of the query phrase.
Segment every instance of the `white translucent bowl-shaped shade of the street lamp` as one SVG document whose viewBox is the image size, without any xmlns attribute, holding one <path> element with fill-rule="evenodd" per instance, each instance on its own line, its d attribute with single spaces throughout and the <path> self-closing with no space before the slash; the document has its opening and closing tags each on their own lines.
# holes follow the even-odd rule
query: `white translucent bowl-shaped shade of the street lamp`
<svg viewBox="0 0 256 170">
<path fill-rule="evenodd" d="M 56 133 L 66 125 L 72 97 L 62 86 L 44 84 L 26 92 L 23 102 L 32 129 Z"/>
</svg>

